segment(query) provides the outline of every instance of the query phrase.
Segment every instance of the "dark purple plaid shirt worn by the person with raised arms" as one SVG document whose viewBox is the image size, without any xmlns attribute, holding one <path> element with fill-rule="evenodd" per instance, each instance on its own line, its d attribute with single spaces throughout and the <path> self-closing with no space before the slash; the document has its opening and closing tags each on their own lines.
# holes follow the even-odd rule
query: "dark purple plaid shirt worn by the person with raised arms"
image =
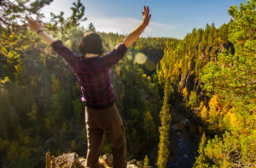
<svg viewBox="0 0 256 168">
<path fill-rule="evenodd" d="M 127 51 L 125 44 L 119 44 L 102 57 L 84 58 L 66 48 L 60 40 L 51 44 L 70 65 L 81 85 L 82 102 L 89 107 L 101 108 L 113 104 L 115 95 L 110 81 L 110 69 Z"/>
</svg>

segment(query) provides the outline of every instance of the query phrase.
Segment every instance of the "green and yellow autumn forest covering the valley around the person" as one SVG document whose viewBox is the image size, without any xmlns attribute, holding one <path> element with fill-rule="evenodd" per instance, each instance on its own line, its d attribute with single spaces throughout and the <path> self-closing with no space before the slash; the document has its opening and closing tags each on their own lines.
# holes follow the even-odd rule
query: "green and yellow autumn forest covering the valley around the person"
<svg viewBox="0 0 256 168">
<path fill-rule="evenodd" d="M 45 167 L 48 151 L 86 156 L 79 81 L 22 19 L 26 14 L 43 19 L 38 11 L 52 0 L 27 2 L 0 2 L 1 167 Z M 69 17 L 51 14 L 44 31 L 74 53 L 84 32 L 96 31 L 104 53 L 110 52 L 125 36 L 98 32 L 92 23 L 84 28 L 85 7 L 78 0 Z M 173 107 L 183 103 L 199 125 L 193 167 L 256 166 L 255 8 L 255 0 L 230 6 L 229 23 L 193 29 L 183 40 L 149 36 L 132 44 L 111 70 L 127 160 L 171 167 Z M 108 139 L 102 154 L 111 154 Z"/>
</svg>

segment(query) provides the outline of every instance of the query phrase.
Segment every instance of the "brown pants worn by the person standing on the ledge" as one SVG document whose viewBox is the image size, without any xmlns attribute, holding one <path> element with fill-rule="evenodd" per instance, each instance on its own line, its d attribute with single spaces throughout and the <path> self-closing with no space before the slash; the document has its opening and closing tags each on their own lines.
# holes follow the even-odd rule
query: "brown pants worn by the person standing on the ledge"
<svg viewBox="0 0 256 168">
<path fill-rule="evenodd" d="M 113 168 L 126 168 L 125 130 L 116 105 L 108 109 L 90 109 L 85 106 L 87 131 L 86 167 L 97 167 L 104 134 L 112 143 Z"/>
</svg>

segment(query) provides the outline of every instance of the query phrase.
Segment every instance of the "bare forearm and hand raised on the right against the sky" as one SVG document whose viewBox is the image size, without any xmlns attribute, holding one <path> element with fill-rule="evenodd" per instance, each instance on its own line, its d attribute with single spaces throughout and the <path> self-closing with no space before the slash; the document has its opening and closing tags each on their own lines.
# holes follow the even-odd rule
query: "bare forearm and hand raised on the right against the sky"
<svg viewBox="0 0 256 168">
<path fill-rule="evenodd" d="M 137 41 L 137 38 L 142 34 L 144 29 L 148 26 L 151 14 L 149 14 L 148 6 L 144 6 L 143 11 L 143 23 L 137 27 L 136 30 L 132 31 L 128 36 L 125 37 L 123 44 L 128 48 L 131 44 Z"/>
</svg>

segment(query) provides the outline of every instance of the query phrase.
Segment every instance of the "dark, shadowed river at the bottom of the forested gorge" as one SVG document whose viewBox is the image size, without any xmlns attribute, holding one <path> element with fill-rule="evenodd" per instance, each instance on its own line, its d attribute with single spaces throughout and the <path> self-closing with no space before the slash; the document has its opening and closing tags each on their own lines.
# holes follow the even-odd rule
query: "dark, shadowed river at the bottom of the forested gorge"
<svg viewBox="0 0 256 168">
<path fill-rule="evenodd" d="M 171 105 L 172 131 L 168 168 L 191 168 L 195 162 L 201 133 L 200 126 L 193 120 L 191 111 L 183 102 Z M 176 140 L 173 140 L 176 139 Z"/>
</svg>

